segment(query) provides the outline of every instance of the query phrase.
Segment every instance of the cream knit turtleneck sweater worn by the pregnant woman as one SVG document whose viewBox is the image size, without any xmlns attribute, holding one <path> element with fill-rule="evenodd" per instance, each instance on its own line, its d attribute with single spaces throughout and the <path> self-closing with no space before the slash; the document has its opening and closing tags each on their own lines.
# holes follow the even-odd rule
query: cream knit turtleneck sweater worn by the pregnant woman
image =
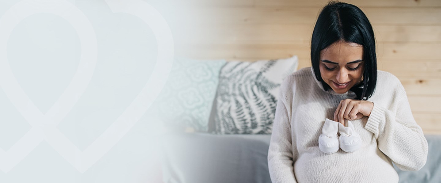
<svg viewBox="0 0 441 183">
<path fill-rule="evenodd" d="M 363 146 L 352 153 L 325 154 L 318 137 L 340 100 L 355 93 L 325 91 L 312 67 L 288 75 L 280 85 L 268 151 L 273 183 L 397 183 L 394 162 L 402 170 L 426 164 L 427 141 L 417 125 L 400 80 L 377 71 L 377 87 L 368 101 L 370 117 L 352 120 Z"/>
</svg>

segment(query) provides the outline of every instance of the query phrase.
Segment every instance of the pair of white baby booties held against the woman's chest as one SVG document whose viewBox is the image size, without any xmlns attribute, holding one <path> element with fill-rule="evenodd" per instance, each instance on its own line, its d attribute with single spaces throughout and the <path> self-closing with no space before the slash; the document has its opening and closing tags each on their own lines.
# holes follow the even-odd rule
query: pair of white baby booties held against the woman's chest
<svg viewBox="0 0 441 183">
<path fill-rule="evenodd" d="M 357 151 L 362 146 L 360 135 L 355 132 L 352 122 L 348 120 L 348 126 L 343 126 L 340 122 L 336 122 L 326 118 L 325 124 L 321 129 L 318 137 L 318 147 L 326 154 L 333 154 L 339 148 L 345 152 Z M 340 132 L 340 137 L 337 135 Z"/>
</svg>

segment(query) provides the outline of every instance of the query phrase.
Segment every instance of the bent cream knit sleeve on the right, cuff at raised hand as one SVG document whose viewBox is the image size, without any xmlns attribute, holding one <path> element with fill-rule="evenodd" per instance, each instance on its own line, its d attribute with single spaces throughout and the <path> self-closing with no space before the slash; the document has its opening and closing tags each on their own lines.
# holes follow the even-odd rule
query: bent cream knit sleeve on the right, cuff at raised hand
<svg viewBox="0 0 441 183">
<path fill-rule="evenodd" d="M 422 129 L 415 122 L 404 87 L 399 84 L 397 97 L 384 108 L 374 103 L 365 129 L 374 133 L 378 148 L 401 170 L 418 171 L 427 160 L 428 145 Z"/>
</svg>

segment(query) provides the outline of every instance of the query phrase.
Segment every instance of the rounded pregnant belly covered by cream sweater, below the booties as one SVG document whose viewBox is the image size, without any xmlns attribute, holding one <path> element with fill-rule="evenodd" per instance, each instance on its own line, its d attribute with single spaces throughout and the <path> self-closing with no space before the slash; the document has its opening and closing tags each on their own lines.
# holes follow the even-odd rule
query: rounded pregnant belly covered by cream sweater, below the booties
<svg viewBox="0 0 441 183">
<path fill-rule="evenodd" d="M 391 161 L 377 148 L 306 152 L 295 161 L 294 173 L 298 183 L 398 183 Z"/>
</svg>

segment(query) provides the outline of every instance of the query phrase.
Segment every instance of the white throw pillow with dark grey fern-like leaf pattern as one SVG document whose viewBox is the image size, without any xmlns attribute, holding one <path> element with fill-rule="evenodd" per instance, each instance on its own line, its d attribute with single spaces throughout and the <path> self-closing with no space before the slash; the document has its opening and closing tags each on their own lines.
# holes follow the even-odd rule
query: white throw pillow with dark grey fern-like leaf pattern
<svg viewBox="0 0 441 183">
<path fill-rule="evenodd" d="M 217 87 L 214 134 L 271 134 L 282 80 L 297 70 L 297 56 L 228 61 Z"/>
</svg>

